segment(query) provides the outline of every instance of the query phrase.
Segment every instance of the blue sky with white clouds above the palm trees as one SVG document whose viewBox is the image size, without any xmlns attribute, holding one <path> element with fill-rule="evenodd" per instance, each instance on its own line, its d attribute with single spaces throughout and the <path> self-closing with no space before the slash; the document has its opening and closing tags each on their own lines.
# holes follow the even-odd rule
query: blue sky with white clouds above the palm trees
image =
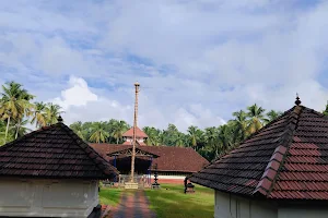
<svg viewBox="0 0 328 218">
<path fill-rule="evenodd" d="M 59 104 L 67 124 L 186 131 L 218 126 L 257 104 L 323 110 L 328 1 L 1 0 L 0 83 Z"/>
</svg>

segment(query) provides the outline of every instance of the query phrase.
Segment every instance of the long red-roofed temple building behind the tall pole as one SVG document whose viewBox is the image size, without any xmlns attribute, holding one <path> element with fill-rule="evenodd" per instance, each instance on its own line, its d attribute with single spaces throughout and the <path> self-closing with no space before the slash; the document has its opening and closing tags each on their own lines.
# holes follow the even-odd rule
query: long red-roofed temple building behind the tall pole
<svg viewBox="0 0 328 218">
<path fill-rule="evenodd" d="M 133 129 L 128 130 L 126 142 L 117 144 L 90 144 L 127 178 L 131 170 Z M 187 175 L 201 170 L 209 161 L 190 147 L 147 146 L 148 135 L 137 128 L 136 131 L 136 173 L 151 183 L 153 172 L 159 172 L 160 183 L 181 183 Z M 118 181 L 118 179 L 117 179 Z"/>
</svg>

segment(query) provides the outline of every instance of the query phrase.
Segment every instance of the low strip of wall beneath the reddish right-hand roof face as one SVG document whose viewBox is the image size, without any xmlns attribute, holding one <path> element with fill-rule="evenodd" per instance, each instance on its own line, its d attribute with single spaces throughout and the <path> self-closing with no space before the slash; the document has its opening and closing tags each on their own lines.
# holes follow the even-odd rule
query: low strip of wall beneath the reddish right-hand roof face
<svg viewBox="0 0 328 218">
<path fill-rule="evenodd" d="M 328 208 L 290 207 L 279 208 L 278 218 L 327 218 Z"/>
</svg>

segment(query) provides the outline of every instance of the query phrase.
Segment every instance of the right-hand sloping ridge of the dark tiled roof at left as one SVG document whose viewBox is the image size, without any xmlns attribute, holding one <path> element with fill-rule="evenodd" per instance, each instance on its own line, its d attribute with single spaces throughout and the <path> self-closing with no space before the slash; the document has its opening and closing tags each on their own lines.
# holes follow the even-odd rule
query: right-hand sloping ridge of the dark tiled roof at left
<svg viewBox="0 0 328 218">
<path fill-rule="evenodd" d="M 104 174 L 118 174 L 118 170 L 112 166 L 104 157 L 102 157 L 92 146 L 81 140 L 70 128 L 68 128 L 63 123 L 58 123 L 65 131 L 69 134 L 69 136 L 77 142 L 77 144 L 82 148 L 82 150 L 90 157 L 90 155 L 94 156 L 91 160 L 95 164 L 95 166 L 104 173 Z M 90 149 L 90 150 L 87 150 Z M 108 171 L 110 168 L 112 171 Z"/>
</svg>

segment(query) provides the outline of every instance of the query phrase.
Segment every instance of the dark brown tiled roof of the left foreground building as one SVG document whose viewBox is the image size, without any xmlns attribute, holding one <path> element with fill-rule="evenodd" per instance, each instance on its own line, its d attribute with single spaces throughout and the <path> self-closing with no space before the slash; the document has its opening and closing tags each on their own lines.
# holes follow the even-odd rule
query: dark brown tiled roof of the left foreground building
<svg viewBox="0 0 328 218">
<path fill-rule="evenodd" d="M 110 179 L 117 170 L 63 123 L 0 147 L 0 177 Z"/>
</svg>

